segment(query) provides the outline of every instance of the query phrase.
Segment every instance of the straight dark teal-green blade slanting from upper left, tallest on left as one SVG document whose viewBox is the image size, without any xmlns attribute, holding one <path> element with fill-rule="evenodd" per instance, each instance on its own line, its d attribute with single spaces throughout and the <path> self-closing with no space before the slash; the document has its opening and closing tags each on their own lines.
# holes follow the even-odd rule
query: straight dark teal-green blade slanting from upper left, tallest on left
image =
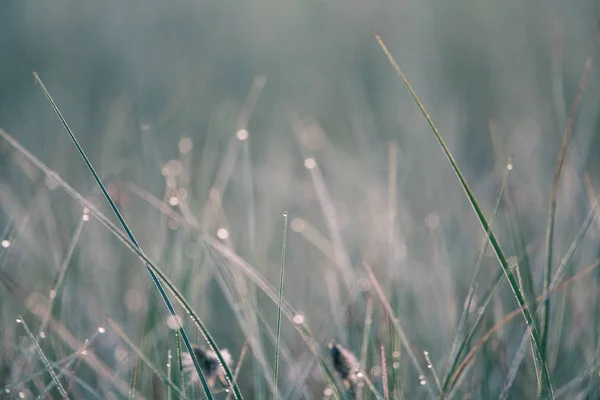
<svg viewBox="0 0 600 400">
<path fill-rule="evenodd" d="M 48 98 L 48 101 L 52 105 L 52 108 L 54 109 L 54 112 L 56 113 L 56 115 L 58 116 L 58 118 L 60 119 L 60 121 L 62 122 L 65 130 L 67 131 L 67 133 L 71 137 L 71 140 L 75 144 L 75 147 L 77 147 L 77 150 L 79 151 L 79 154 L 81 155 L 81 157 L 83 158 L 83 160 L 84 160 L 85 164 L 87 165 L 88 169 L 90 170 L 90 172 L 94 176 L 94 179 L 96 180 L 96 183 L 100 187 L 100 190 L 102 191 L 102 194 L 104 195 L 104 197 L 108 201 L 110 207 L 112 208 L 112 210 L 115 213 L 115 215 L 117 216 L 119 222 L 123 226 L 123 229 L 127 233 L 127 236 L 129 236 L 129 239 L 132 241 L 132 243 L 135 245 L 135 247 L 137 247 L 138 249 L 141 250 L 140 245 L 138 244 L 137 240 L 133 236 L 133 232 L 131 232 L 131 230 L 129 229 L 129 226 L 125 222 L 125 219 L 123 218 L 123 216 L 119 212 L 119 209 L 117 208 L 116 204 L 114 203 L 114 201 L 112 200 L 112 198 L 108 194 L 108 191 L 106 190 L 106 188 L 102 184 L 102 181 L 100 180 L 100 177 L 98 176 L 98 174 L 94 170 L 94 167 L 92 167 L 92 164 L 89 161 L 89 159 L 87 158 L 87 156 L 85 155 L 85 152 L 83 151 L 83 148 L 80 146 L 79 142 L 77 141 L 77 138 L 75 137 L 75 135 L 71 131 L 71 128 L 69 128 L 69 125 L 67 124 L 67 121 L 62 116 L 62 113 L 60 112 L 60 110 L 58 109 L 56 103 L 52 99 L 52 96 L 50 96 L 50 93 L 48 92 L 48 89 L 46 89 L 46 86 L 44 85 L 44 83 L 42 82 L 42 80 L 40 79 L 40 77 L 38 76 L 38 74 L 35 71 L 33 72 L 33 76 L 35 77 L 35 80 L 40 84 L 42 90 L 44 91 L 44 94 L 46 95 L 46 97 Z M 160 281 L 158 280 L 156 274 L 154 273 L 154 271 L 152 271 L 152 269 L 150 267 L 148 267 L 148 265 L 146 265 L 146 269 L 148 270 L 148 273 L 150 274 L 150 277 L 152 278 L 152 281 L 154 282 L 154 284 L 155 284 L 157 290 L 159 291 L 159 293 L 160 293 L 163 301 L 165 302 L 165 304 L 166 304 L 166 306 L 167 306 L 167 308 L 169 310 L 169 313 L 174 317 L 174 319 L 179 324 L 179 331 L 181 333 L 181 338 L 183 339 L 183 342 L 185 343 L 185 346 L 186 346 L 188 352 L 190 353 L 190 355 L 192 357 L 192 361 L 194 362 L 194 367 L 196 368 L 196 372 L 198 373 L 198 376 L 200 377 L 200 381 L 202 382 L 202 387 L 204 389 L 204 392 L 206 393 L 206 396 L 208 397 L 208 399 L 211 400 L 212 399 L 212 395 L 210 393 L 210 388 L 208 387 L 208 383 L 206 382 L 206 378 L 204 377 L 204 374 L 202 373 L 202 370 L 200 368 L 200 364 L 198 363 L 198 359 L 196 358 L 196 356 L 194 354 L 194 351 L 192 350 L 192 345 L 191 345 L 191 343 L 190 343 L 190 341 L 189 341 L 189 339 L 187 337 L 187 334 L 185 333 L 185 330 L 183 329 L 183 325 L 181 324 L 180 319 L 177 317 L 177 312 L 175 311 L 175 308 L 173 308 L 173 305 L 171 304 L 171 301 L 167 297 L 167 294 L 166 294 L 164 288 L 162 287 Z M 213 350 L 215 351 L 215 354 L 217 354 L 217 356 L 219 357 L 219 360 L 221 361 L 221 363 L 222 364 L 226 364 L 222 360 L 223 357 L 221 356 L 220 351 L 217 348 L 215 348 Z M 236 397 L 238 399 L 241 399 L 242 396 L 241 396 L 241 394 L 239 394 L 239 396 L 238 396 L 239 389 L 237 388 L 237 385 L 235 385 L 235 384 L 234 384 L 234 391 L 236 392 Z"/>
</svg>

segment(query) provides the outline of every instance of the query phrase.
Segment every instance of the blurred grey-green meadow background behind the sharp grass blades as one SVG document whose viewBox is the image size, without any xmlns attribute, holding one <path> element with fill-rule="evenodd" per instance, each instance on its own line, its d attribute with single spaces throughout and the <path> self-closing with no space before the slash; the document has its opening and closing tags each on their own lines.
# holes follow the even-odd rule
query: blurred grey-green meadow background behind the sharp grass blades
<svg viewBox="0 0 600 400">
<path fill-rule="evenodd" d="M 362 263 L 372 266 L 418 356 L 427 350 L 429 370 L 443 376 L 485 232 L 373 31 L 488 217 L 512 157 L 494 230 L 507 256 L 525 250 L 539 295 L 554 166 L 598 17 L 593 0 L 7 0 L 0 128 L 116 221 L 35 70 L 142 249 L 221 348 L 238 360 L 248 343 L 238 379 L 246 398 L 272 397 L 277 306 L 239 258 L 277 290 L 284 211 L 284 297 L 296 322 L 326 356 L 332 339 L 356 353 L 380 392 L 384 345 L 392 398 L 427 398 L 434 379 L 411 365 Z M 596 61 L 561 175 L 554 268 L 600 193 Z M 78 356 L 62 371 L 65 385 L 69 374 L 77 377 L 74 398 L 127 397 L 136 362 L 138 396 L 166 398 L 164 379 L 123 339 L 167 374 L 176 340 L 166 307 L 135 254 L 83 212 L 0 139 L 0 388 L 9 398 L 33 398 L 52 382 L 42 374 L 19 383 L 43 369 L 15 322 L 22 315 L 52 362 L 90 340 L 87 360 L 100 364 Z M 567 275 L 597 260 L 598 233 L 594 223 Z M 488 251 L 469 318 L 499 271 Z M 596 272 L 575 280 L 552 308 L 555 387 L 582 378 L 567 394 L 600 387 L 588 371 L 600 361 L 599 280 Z M 45 330 L 43 310 L 53 299 Z M 516 307 L 503 280 L 471 347 Z M 525 327 L 517 316 L 482 346 L 456 398 L 499 395 Z M 282 398 L 327 397 L 317 359 L 285 318 L 282 345 Z M 530 398 L 535 382 L 529 352 L 509 397 Z M 197 383 L 186 390 L 202 397 Z M 56 388 L 47 396 L 58 398 Z"/>
</svg>

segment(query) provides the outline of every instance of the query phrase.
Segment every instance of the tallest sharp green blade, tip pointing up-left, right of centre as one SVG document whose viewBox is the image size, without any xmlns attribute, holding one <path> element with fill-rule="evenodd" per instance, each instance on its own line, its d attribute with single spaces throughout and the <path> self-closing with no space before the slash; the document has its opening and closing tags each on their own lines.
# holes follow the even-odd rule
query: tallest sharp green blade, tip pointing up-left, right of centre
<svg viewBox="0 0 600 400">
<path fill-rule="evenodd" d="M 527 326 L 529 326 L 531 328 L 531 339 L 532 339 L 533 347 L 534 347 L 534 362 L 535 362 L 535 366 L 536 366 L 536 376 L 538 379 L 540 396 L 542 398 L 553 398 L 554 396 L 552 394 L 552 392 L 553 392 L 552 391 L 552 382 L 551 382 L 550 373 L 548 371 L 548 367 L 546 364 L 545 354 L 542 351 L 542 347 L 541 347 L 540 331 L 535 322 L 535 318 L 533 317 L 533 314 L 531 313 L 531 310 L 529 310 L 527 307 L 525 307 L 525 304 L 526 304 L 525 298 L 523 296 L 521 289 L 519 288 L 519 284 L 518 284 L 517 280 L 515 279 L 512 271 L 509 268 L 508 261 L 506 259 L 506 256 L 504 255 L 504 252 L 502 251 L 502 248 L 500 247 L 500 243 L 496 239 L 496 235 L 494 235 L 494 233 L 490 229 L 489 223 L 488 223 L 487 219 L 485 218 L 485 216 L 483 215 L 483 211 L 479 207 L 477 200 L 475 199 L 475 195 L 471 191 L 471 188 L 467 184 L 467 181 L 465 180 L 462 172 L 460 171 L 458 164 L 454 160 L 454 156 L 448 149 L 448 146 L 446 146 L 446 143 L 444 142 L 442 135 L 439 133 L 438 129 L 436 128 L 435 124 L 433 123 L 433 120 L 431 119 L 431 117 L 429 116 L 427 111 L 425 110 L 423 103 L 421 103 L 421 100 L 419 100 L 419 97 L 417 96 L 416 92 L 413 90 L 412 86 L 410 85 L 408 79 L 406 78 L 406 76 L 404 75 L 404 73 L 402 72 L 400 67 L 398 66 L 398 63 L 396 62 L 394 57 L 389 52 L 385 43 L 383 43 L 383 40 L 381 40 L 381 38 L 377 34 L 375 34 L 375 38 L 377 39 L 377 42 L 379 43 L 379 45 L 381 46 L 383 51 L 385 52 L 388 60 L 390 61 L 390 63 L 394 67 L 394 69 L 396 70 L 396 73 L 398 74 L 400 79 L 402 79 L 402 81 L 404 82 L 404 85 L 406 86 L 406 88 L 410 92 L 412 98 L 414 99 L 415 103 L 421 110 L 421 113 L 427 120 L 427 123 L 428 123 L 429 127 L 431 128 L 431 131 L 433 132 L 438 144 L 442 148 L 444 155 L 450 162 L 452 169 L 454 170 L 454 172 L 456 174 L 456 177 L 458 178 L 463 190 L 465 191 L 465 194 L 469 200 L 469 203 L 471 203 L 471 206 L 473 207 L 473 210 L 475 211 L 475 214 L 477 215 L 477 218 L 479 219 L 479 223 L 481 224 L 484 231 L 487 233 L 490 244 L 492 245 L 492 248 L 494 249 L 494 253 L 496 253 L 496 257 L 498 258 L 498 261 L 500 262 L 500 266 L 502 267 L 504 275 L 506 276 L 506 279 L 508 280 L 508 283 L 515 295 L 515 298 L 517 299 L 517 303 L 519 304 L 520 307 L 522 307 L 521 310 L 523 313 L 523 317 L 525 318 L 525 322 L 527 323 Z"/>
</svg>

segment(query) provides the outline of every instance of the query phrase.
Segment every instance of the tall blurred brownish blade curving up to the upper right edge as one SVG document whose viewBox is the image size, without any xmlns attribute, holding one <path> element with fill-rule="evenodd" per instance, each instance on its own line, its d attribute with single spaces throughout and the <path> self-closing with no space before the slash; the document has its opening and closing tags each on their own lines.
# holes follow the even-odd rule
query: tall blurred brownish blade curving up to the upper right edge
<svg viewBox="0 0 600 400">
<path fill-rule="evenodd" d="M 550 206 L 548 209 L 548 223 L 546 229 L 546 265 L 544 268 L 544 289 L 543 294 L 546 296 L 546 300 L 542 305 L 542 315 L 541 315 L 541 349 L 543 355 L 545 356 L 547 347 L 548 347 L 548 322 L 550 319 L 550 301 L 547 296 L 550 291 L 550 279 L 552 275 L 552 252 L 553 252 L 553 244 L 554 244 L 554 219 L 556 216 L 556 197 L 558 194 L 558 181 L 560 179 L 560 173 L 562 171 L 562 166 L 565 160 L 565 156 L 567 154 L 567 147 L 569 145 L 569 139 L 571 138 L 571 134 L 573 132 L 573 125 L 575 123 L 575 114 L 577 114 L 577 110 L 579 109 L 579 104 L 581 103 L 581 98 L 583 97 L 583 92 L 585 91 L 586 82 L 590 70 L 592 69 L 592 62 L 594 60 L 594 55 L 596 53 L 596 46 L 598 44 L 598 40 L 600 39 L 600 20 L 598 20 L 596 25 L 596 32 L 594 33 L 594 38 L 592 39 L 592 44 L 588 53 L 588 57 L 585 61 L 583 67 L 583 73 L 581 74 L 581 79 L 579 80 L 579 88 L 575 99 L 573 100 L 573 104 L 571 105 L 571 112 L 569 114 L 569 120 L 567 121 L 567 126 L 565 127 L 565 131 L 563 133 L 562 142 L 560 144 L 560 150 L 558 152 L 558 158 L 556 160 L 556 166 L 554 168 L 554 178 L 552 181 L 552 190 L 550 192 Z"/>
</svg>

